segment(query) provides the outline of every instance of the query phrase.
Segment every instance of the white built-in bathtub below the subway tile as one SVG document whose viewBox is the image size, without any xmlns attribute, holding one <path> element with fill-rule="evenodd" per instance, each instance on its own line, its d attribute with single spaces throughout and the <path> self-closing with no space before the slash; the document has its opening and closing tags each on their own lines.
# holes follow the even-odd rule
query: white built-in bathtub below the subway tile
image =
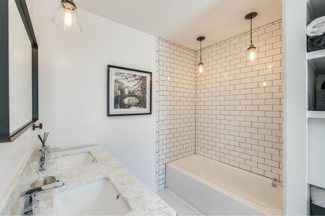
<svg viewBox="0 0 325 216">
<path fill-rule="evenodd" d="M 166 187 L 205 215 L 282 215 L 272 179 L 198 154 L 166 164 Z"/>
</svg>

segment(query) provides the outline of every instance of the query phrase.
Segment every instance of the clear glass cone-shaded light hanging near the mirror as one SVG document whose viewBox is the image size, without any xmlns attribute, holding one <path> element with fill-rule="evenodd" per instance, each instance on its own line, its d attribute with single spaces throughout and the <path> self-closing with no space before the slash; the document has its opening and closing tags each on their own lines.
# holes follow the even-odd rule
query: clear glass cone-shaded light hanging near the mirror
<svg viewBox="0 0 325 216">
<path fill-rule="evenodd" d="M 61 0 L 61 4 L 52 22 L 64 31 L 80 32 L 82 30 L 77 14 L 77 7 L 73 3 L 73 0 Z"/>
</svg>

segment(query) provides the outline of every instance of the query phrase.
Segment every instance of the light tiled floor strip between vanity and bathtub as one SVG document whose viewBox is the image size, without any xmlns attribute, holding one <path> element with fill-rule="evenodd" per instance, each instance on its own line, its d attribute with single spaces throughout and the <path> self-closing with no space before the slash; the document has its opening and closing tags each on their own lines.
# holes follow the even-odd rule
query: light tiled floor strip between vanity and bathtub
<svg viewBox="0 0 325 216">
<path fill-rule="evenodd" d="M 202 215 L 166 188 L 156 193 L 161 199 L 175 209 L 177 215 Z"/>
</svg>

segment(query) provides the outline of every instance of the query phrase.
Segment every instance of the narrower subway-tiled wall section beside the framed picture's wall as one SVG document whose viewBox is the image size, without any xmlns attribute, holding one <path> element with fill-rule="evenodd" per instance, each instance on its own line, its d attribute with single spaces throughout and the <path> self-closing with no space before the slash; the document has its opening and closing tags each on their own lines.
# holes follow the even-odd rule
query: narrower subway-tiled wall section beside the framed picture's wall
<svg viewBox="0 0 325 216">
<path fill-rule="evenodd" d="M 195 153 L 196 52 L 158 39 L 156 182 L 165 188 L 165 163 Z"/>
</svg>

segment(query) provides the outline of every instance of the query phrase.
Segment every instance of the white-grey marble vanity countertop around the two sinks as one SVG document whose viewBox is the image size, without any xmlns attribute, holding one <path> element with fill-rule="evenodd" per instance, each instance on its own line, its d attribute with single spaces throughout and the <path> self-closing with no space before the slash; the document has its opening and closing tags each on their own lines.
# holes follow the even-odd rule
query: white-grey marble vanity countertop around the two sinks
<svg viewBox="0 0 325 216">
<path fill-rule="evenodd" d="M 55 159 L 64 155 L 90 152 L 97 162 L 84 166 L 58 169 Z M 38 193 L 39 206 L 36 215 L 52 215 L 54 212 L 54 193 L 67 190 L 102 178 L 109 179 L 131 207 L 127 215 L 176 215 L 176 211 L 158 197 L 144 183 L 135 177 L 125 166 L 102 146 L 51 152 L 47 157 L 44 176 L 55 176 L 65 186 Z"/>
</svg>

